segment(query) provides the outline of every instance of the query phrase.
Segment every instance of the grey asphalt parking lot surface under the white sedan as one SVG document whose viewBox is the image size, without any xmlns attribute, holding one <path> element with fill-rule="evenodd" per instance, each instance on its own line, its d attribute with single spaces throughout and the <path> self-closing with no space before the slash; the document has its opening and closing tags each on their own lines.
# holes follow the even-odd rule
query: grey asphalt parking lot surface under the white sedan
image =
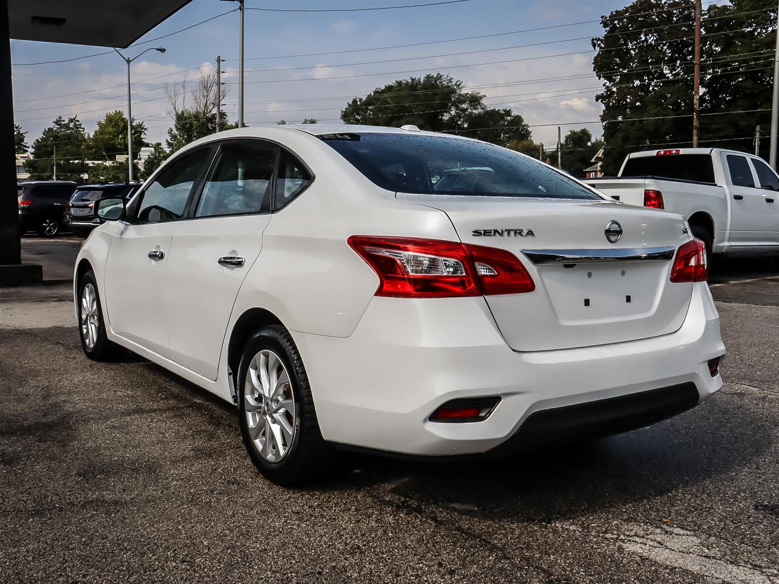
<svg viewBox="0 0 779 584">
<path fill-rule="evenodd" d="M 78 242 L 23 246 L 51 283 L 0 289 L 0 582 L 779 582 L 774 259 L 714 269 L 725 384 L 694 410 L 498 463 L 354 456 L 291 491 L 232 406 L 86 359 L 58 276 Z"/>
</svg>

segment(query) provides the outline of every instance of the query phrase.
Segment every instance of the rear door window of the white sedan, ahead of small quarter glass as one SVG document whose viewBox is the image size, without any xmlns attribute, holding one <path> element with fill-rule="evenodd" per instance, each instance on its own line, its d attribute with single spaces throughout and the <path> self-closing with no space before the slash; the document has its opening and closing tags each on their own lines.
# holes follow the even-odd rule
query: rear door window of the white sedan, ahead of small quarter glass
<svg viewBox="0 0 779 584">
<path fill-rule="evenodd" d="M 203 186 L 196 217 L 270 212 L 277 148 L 270 144 L 225 144 Z"/>
</svg>

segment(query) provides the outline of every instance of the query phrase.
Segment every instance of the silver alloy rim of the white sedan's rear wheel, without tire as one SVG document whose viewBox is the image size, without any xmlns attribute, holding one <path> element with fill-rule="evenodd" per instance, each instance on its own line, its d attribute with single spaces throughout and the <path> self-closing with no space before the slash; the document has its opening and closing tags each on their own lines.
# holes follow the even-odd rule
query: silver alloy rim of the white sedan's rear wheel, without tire
<svg viewBox="0 0 779 584">
<path fill-rule="evenodd" d="M 263 459 L 279 462 L 289 452 L 297 420 L 287 368 L 273 351 L 261 350 L 249 363 L 244 402 L 252 444 Z"/>
</svg>

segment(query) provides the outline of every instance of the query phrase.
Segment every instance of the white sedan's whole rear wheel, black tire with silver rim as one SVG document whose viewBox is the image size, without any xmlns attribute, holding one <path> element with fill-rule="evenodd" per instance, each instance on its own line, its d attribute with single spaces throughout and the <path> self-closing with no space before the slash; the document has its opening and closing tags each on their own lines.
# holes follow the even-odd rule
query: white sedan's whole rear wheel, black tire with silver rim
<svg viewBox="0 0 779 584">
<path fill-rule="evenodd" d="M 330 449 L 298 347 L 283 326 L 268 326 L 246 343 L 238 404 L 244 445 L 263 476 L 291 486 L 322 473 Z"/>
</svg>

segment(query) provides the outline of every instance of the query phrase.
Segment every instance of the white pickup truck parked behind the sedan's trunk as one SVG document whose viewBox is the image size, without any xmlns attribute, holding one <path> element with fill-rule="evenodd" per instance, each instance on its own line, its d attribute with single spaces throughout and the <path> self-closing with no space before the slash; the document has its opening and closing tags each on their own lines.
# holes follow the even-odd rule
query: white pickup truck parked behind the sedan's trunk
<svg viewBox="0 0 779 584">
<path fill-rule="evenodd" d="M 636 152 L 619 176 L 583 182 L 629 205 L 679 213 L 708 255 L 779 251 L 779 176 L 751 154 L 719 148 Z"/>
</svg>

